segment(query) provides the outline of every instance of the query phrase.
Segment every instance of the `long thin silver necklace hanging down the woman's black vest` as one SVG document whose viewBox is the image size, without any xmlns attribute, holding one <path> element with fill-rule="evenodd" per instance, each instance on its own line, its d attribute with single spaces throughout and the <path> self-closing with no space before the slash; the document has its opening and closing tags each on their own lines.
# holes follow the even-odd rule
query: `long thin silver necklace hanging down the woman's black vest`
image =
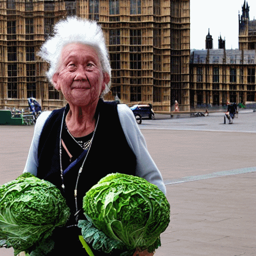
<svg viewBox="0 0 256 256">
<path fill-rule="evenodd" d="M 61 152 L 61 133 L 62 133 L 62 128 L 63 128 L 64 116 L 65 116 L 65 109 L 64 109 L 64 112 L 63 112 L 63 115 L 62 115 L 61 126 L 60 126 L 60 134 L 59 134 L 60 177 L 61 177 L 61 181 L 62 181 L 61 187 L 62 187 L 63 191 L 64 191 L 64 189 L 65 189 L 65 185 L 64 185 L 63 169 L 62 169 L 62 163 L 61 163 L 61 155 L 62 155 L 62 152 Z M 99 114 L 98 114 L 97 122 L 96 122 L 96 125 L 95 125 L 95 128 L 94 128 L 92 137 L 91 137 L 91 139 L 90 139 L 90 143 L 89 143 L 89 146 L 88 146 L 88 152 L 89 152 L 89 150 L 90 150 L 91 141 L 93 140 L 93 137 L 94 137 L 94 134 L 95 134 L 95 130 L 96 130 L 96 127 L 97 127 L 97 125 L 98 125 L 98 119 L 99 119 Z M 78 180 L 79 180 L 80 174 L 81 174 L 81 172 L 82 172 L 83 165 L 84 165 L 85 160 L 86 160 L 86 158 L 87 158 L 88 152 L 87 152 L 87 154 L 86 154 L 85 157 L 84 157 L 84 160 L 83 160 L 83 162 L 82 162 L 81 167 L 79 168 L 79 171 L 78 171 L 78 174 L 77 174 L 77 179 L 76 179 L 76 184 L 75 184 L 75 189 L 74 189 L 74 199 L 75 199 L 76 213 L 77 213 L 77 211 L 78 211 L 78 209 L 77 209 L 77 184 L 78 184 Z"/>
</svg>

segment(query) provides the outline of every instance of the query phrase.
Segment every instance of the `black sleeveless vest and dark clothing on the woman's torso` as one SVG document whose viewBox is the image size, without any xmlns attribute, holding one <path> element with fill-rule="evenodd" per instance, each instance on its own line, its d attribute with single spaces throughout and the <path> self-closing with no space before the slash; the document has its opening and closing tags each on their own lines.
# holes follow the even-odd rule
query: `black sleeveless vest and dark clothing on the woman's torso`
<svg viewBox="0 0 256 256">
<path fill-rule="evenodd" d="M 37 177 L 55 184 L 65 197 L 67 205 L 71 210 L 71 217 L 66 226 L 76 224 L 74 218 L 76 211 L 74 188 L 78 170 L 83 161 L 81 159 L 77 166 L 70 169 L 64 175 L 65 190 L 63 191 L 60 177 L 59 134 L 63 112 L 66 114 L 68 110 L 68 105 L 65 108 L 53 110 L 45 121 L 38 144 L 39 164 L 37 168 Z M 112 172 L 135 175 L 136 157 L 123 133 L 118 117 L 117 104 L 115 102 L 99 100 L 95 118 L 99 118 L 98 125 L 77 186 L 77 204 L 78 209 L 81 209 L 79 219 L 84 218 L 82 210 L 83 196 L 100 178 Z M 76 158 L 83 149 L 66 133 L 68 132 L 63 126 L 63 138 L 62 135 L 61 138 L 65 140 L 64 143 L 73 155 L 72 158 Z M 63 148 L 61 160 L 62 169 L 64 170 L 70 161 L 68 154 Z M 53 232 L 55 246 L 49 256 L 56 255 L 56 253 L 59 253 L 61 256 L 70 256 L 74 253 L 78 256 L 86 255 L 84 248 L 82 248 L 78 240 L 78 235 L 80 234 L 78 227 L 58 227 Z M 104 255 L 102 252 L 93 251 L 93 253 L 95 256 Z M 111 255 L 119 255 L 119 253 Z"/>
</svg>

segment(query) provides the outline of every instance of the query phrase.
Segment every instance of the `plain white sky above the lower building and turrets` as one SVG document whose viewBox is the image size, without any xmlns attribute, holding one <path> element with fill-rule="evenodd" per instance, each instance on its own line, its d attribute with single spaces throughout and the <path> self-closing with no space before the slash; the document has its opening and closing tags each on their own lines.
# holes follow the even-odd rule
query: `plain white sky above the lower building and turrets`
<svg viewBox="0 0 256 256">
<path fill-rule="evenodd" d="M 238 11 L 244 0 L 190 0 L 190 48 L 205 49 L 208 28 L 213 48 L 218 48 L 218 37 L 225 38 L 225 48 L 238 48 Z M 256 18 L 256 0 L 247 0 L 249 18 Z"/>
</svg>

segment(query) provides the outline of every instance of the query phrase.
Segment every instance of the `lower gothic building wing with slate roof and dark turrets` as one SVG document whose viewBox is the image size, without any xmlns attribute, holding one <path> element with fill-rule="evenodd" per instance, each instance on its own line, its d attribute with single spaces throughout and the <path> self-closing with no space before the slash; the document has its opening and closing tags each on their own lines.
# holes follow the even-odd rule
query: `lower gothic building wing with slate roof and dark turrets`
<svg viewBox="0 0 256 256">
<path fill-rule="evenodd" d="M 256 22 L 249 20 L 249 6 L 244 1 L 239 15 L 239 49 L 225 49 L 218 38 L 218 49 L 212 47 L 210 33 L 205 50 L 190 55 L 190 105 L 226 105 L 226 102 L 256 101 Z"/>
</svg>

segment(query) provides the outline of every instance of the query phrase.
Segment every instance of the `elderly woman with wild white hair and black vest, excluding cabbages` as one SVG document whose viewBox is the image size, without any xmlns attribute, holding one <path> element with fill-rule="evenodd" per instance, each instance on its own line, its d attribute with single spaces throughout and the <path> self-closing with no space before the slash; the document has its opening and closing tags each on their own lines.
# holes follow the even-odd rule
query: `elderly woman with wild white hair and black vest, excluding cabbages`
<svg viewBox="0 0 256 256">
<path fill-rule="evenodd" d="M 82 256 L 76 226 L 84 218 L 82 198 L 101 177 L 121 172 L 143 177 L 164 193 L 165 186 L 131 110 L 102 100 L 111 73 L 100 26 L 75 17 L 59 21 L 39 55 L 49 62 L 47 77 L 68 103 L 38 117 L 24 172 L 55 184 L 71 209 L 66 226 L 53 232 L 49 255 Z"/>
</svg>

